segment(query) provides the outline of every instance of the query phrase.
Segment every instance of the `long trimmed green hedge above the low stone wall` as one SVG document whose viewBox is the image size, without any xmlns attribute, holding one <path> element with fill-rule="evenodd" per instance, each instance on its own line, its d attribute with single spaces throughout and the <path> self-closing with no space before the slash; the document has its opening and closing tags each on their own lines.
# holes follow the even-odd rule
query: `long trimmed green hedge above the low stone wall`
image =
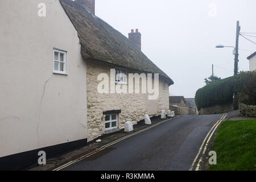
<svg viewBox="0 0 256 182">
<path fill-rule="evenodd" d="M 256 72 L 241 72 L 237 76 L 213 81 L 197 90 L 197 109 L 214 105 L 232 104 L 236 91 L 240 102 L 249 105 L 256 103 Z"/>
</svg>

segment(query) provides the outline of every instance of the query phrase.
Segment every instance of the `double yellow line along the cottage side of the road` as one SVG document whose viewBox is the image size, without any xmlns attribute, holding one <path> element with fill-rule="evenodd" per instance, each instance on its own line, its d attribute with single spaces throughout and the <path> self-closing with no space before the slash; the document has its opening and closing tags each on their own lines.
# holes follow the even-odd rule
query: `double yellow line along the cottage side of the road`
<svg viewBox="0 0 256 182">
<path fill-rule="evenodd" d="M 172 118 L 171 118 L 171 119 L 172 119 Z M 161 121 L 161 122 L 156 123 L 155 125 L 149 126 L 149 127 L 147 127 L 146 129 L 142 129 L 142 130 L 139 130 L 139 131 L 137 131 L 137 132 L 135 132 L 135 133 L 133 133 L 133 134 L 127 135 L 127 136 L 122 137 L 122 138 L 119 138 L 119 139 L 115 140 L 114 142 L 108 143 L 108 144 L 106 144 L 105 146 L 102 146 L 102 147 L 100 147 L 100 148 L 97 148 L 96 150 L 94 150 L 94 151 L 92 151 L 92 152 L 89 152 L 88 154 L 86 154 L 86 155 L 84 155 L 84 156 L 81 156 L 80 158 L 78 158 L 78 159 L 76 159 L 76 160 L 72 160 L 71 162 L 66 163 L 66 164 L 64 164 L 63 166 L 60 166 L 60 167 L 58 167 L 58 168 L 55 168 L 55 169 L 53 169 L 53 171 L 60 171 L 61 169 L 65 168 L 65 167 L 71 166 L 71 164 L 73 164 L 73 163 L 79 162 L 80 160 L 83 160 L 83 159 L 85 159 L 85 158 L 89 158 L 89 156 L 92 156 L 92 155 L 94 155 L 94 154 L 97 154 L 98 152 L 104 150 L 106 147 L 112 146 L 112 145 L 115 144 L 115 143 L 121 142 L 122 140 L 124 140 L 124 139 L 126 139 L 126 138 L 129 138 L 129 137 L 132 137 L 132 136 L 134 136 L 134 135 L 137 135 L 137 134 L 139 134 L 139 133 L 142 133 L 143 131 L 152 129 L 152 127 L 156 127 L 156 126 L 158 126 L 158 125 L 160 125 L 160 124 L 162 124 L 162 123 L 164 123 L 164 122 L 166 122 L 166 121 L 170 121 L 171 119 L 166 119 L 166 120 L 164 120 L 164 121 Z"/>
</svg>

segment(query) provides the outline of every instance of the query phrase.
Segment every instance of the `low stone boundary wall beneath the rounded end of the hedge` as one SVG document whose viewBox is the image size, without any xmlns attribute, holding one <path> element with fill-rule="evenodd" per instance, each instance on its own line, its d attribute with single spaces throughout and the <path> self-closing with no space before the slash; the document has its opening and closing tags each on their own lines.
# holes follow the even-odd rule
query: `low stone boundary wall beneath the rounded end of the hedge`
<svg viewBox="0 0 256 182">
<path fill-rule="evenodd" d="M 203 107 L 199 110 L 199 114 L 222 114 L 233 111 L 233 104 L 215 105 L 212 107 Z"/>
</svg>

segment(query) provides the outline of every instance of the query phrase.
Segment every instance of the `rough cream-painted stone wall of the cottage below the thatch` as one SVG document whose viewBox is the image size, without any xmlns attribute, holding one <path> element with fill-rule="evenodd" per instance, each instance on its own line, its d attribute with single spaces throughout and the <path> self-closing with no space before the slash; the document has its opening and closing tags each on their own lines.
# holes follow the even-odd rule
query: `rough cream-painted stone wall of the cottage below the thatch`
<svg viewBox="0 0 256 182">
<path fill-rule="evenodd" d="M 162 81 L 159 79 L 158 100 L 148 100 L 148 94 L 100 94 L 97 91 L 97 77 L 100 73 L 109 76 L 110 69 L 115 66 L 95 60 L 87 60 L 87 105 L 88 105 L 88 141 L 105 134 L 105 115 L 103 111 L 121 110 L 118 116 L 118 128 L 123 129 L 126 121 L 136 124 L 144 119 L 144 114 L 152 116 L 160 115 L 161 110 L 169 109 L 169 89 L 162 89 Z M 127 73 L 139 73 L 133 69 L 127 69 Z M 129 82 L 128 82 L 129 84 Z M 128 88 L 128 85 L 127 85 Z"/>
</svg>

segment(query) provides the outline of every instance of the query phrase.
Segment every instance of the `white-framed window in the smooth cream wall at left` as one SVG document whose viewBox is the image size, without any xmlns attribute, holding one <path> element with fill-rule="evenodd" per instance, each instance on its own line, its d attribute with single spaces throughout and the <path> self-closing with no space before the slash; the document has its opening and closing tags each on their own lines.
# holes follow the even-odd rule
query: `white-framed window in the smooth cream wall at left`
<svg viewBox="0 0 256 182">
<path fill-rule="evenodd" d="M 66 74 L 66 52 L 53 49 L 53 73 Z"/>
</svg>

